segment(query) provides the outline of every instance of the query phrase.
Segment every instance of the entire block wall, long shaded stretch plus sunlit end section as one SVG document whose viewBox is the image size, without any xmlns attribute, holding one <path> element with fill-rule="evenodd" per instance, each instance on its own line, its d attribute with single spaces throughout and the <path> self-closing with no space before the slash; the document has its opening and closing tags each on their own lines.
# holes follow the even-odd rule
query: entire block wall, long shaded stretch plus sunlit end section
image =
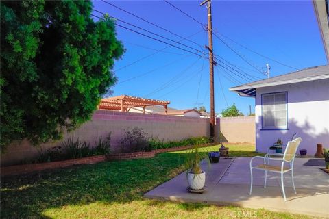
<svg viewBox="0 0 329 219">
<path fill-rule="evenodd" d="M 119 142 L 125 131 L 134 127 L 142 128 L 149 137 L 171 141 L 191 136 L 210 136 L 209 123 L 209 118 L 97 110 L 91 121 L 71 133 L 66 133 L 64 140 L 73 136 L 75 139 L 90 142 L 90 145 L 93 146 L 98 136 L 106 138 L 111 132 L 112 151 L 119 152 Z M 254 143 L 254 116 L 216 118 L 215 140 L 219 141 L 219 139 L 223 139 L 223 142 Z M 38 157 L 38 149 L 48 149 L 60 144 L 61 142 L 53 142 L 34 147 L 26 140 L 12 144 L 8 146 L 7 153 L 1 155 L 1 166 L 29 162 Z"/>
</svg>

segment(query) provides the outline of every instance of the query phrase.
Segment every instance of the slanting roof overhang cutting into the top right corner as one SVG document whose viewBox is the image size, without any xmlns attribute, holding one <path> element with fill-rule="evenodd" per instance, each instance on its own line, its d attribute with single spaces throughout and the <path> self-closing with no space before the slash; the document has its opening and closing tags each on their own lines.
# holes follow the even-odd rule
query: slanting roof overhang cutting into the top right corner
<svg viewBox="0 0 329 219">
<path fill-rule="evenodd" d="M 315 16 L 317 17 L 317 24 L 324 43 L 324 51 L 326 53 L 327 62 L 329 64 L 329 14 L 328 14 L 328 1 L 325 0 L 313 0 L 313 8 Z"/>
</svg>

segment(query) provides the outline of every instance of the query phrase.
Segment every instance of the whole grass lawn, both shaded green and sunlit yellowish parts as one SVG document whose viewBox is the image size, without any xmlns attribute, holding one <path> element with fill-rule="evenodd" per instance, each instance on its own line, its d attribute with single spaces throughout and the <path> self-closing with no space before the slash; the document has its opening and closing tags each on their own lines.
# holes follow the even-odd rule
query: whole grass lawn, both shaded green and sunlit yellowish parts
<svg viewBox="0 0 329 219">
<path fill-rule="evenodd" d="M 218 147 L 206 149 L 217 151 Z M 232 156 L 257 154 L 253 145 L 229 147 Z M 1 179 L 1 218 L 236 218 L 242 214 L 251 218 L 308 218 L 265 209 L 143 198 L 145 192 L 182 172 L 186 152 L 6 177 Z"/>
</svg>

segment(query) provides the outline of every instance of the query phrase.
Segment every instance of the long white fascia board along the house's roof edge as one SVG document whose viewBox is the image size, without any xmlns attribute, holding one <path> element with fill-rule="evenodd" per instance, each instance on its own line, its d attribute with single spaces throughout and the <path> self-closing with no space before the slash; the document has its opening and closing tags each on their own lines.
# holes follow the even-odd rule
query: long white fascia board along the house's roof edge
<svg viewBox="0 0 329 219">
<path fill-rule="evenodd" d="M 270 82 L 270 83 L 258 83 L 255 85 L 234 87 L 234 88 L 230 88 L 230 91 L 237 91 L 237 90 L 250 89 L 250 88 L 264 88 L 264 87 L 269 87 L 269 86 L 277 86 L 277 85 L 289 84 L 289 83 L 300 83 L 300 82 L 305 82 L 305 81 L 315 81 L 315 80 L 327 79 L 327 78 L 329 78 L 329 74 L 320 75 L 320 76 L 316 76 L 316 77 L 304 77 L 301 79 L 293 79 L 293 80 L 289 80 L 289 81 L 276 81 L 276 82 Z"/>
</svg>

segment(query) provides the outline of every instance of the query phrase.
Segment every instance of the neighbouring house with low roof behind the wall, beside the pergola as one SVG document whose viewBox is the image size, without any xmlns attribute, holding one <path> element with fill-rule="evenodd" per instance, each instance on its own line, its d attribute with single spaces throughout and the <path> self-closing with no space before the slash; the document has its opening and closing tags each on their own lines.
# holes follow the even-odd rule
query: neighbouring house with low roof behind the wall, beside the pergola
<svg viewBox="0 0 329 219">
<path fill-rule="evenodd" d="M 167 107 L 167 114 L 171 116 L 190 116 L 190 117 L 200 117 L 201 113 L 195 109 L 177 110 L 171 107 Z M 129 112 L 143 113 L 142 107 L 134 107 L 129 110 Z M 166 114 L 164 107 L 158 105 L 152 105 L 145 107 L 145 114 Z"/>
</svg>

